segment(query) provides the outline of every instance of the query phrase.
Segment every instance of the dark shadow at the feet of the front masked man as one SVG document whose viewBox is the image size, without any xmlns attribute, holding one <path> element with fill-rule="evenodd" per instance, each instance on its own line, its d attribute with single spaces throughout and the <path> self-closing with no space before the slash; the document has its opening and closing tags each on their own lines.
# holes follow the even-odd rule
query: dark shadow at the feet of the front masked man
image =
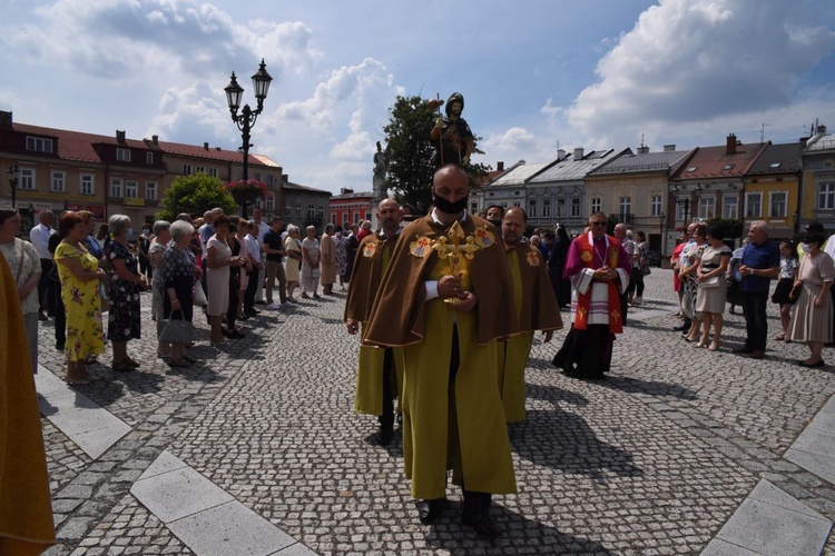
<svg viewBox="0 0 835 556">
<path fill-rule="evenodd" d="M 461 504 L 452 503 L 438 524 L 430 526 L 426 544 L 450 554 L 513 554 L 518 543 L 537 543 L 539 554 L 611 554 L 593 540 L 560 533 L 556 527 L 534 522 L 510 509 L 493 505 L 490 517 L 503 535 L 494 542 L 480 539 L 461 525 Z"/>
</svg>

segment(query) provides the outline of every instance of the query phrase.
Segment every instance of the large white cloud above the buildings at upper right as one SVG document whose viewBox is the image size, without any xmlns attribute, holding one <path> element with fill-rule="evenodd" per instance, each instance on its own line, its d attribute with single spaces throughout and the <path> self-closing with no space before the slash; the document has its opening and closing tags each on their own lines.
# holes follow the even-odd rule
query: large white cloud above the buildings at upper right
<svg viewBox="0 0 835 556">
<path fill-rule="evenodd" d="M 635 145 L 642 132 L 785 108 L 835 46 L 831 31 L 793 20 L 802 13 L 782 0 L 661 0 L 600 60 L 568 122 Z"/>
</svg>

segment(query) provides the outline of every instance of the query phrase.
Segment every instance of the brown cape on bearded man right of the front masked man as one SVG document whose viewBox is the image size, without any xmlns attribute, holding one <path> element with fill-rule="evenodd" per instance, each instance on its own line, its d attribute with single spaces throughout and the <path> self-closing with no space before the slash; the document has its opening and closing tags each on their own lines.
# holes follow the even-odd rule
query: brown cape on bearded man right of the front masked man
<svg viewBox="0 0 835 556">
<path fill-rule="evenodd" d="M 562 328 L 562 316 L 553 287 L 548 277 L 542 254 L 529 244 L 509 247 L 519 258 L 519 270 L 522 275 L 522 310 L 519 316 L 521 331 L 559 330 Z"/>
</svg>

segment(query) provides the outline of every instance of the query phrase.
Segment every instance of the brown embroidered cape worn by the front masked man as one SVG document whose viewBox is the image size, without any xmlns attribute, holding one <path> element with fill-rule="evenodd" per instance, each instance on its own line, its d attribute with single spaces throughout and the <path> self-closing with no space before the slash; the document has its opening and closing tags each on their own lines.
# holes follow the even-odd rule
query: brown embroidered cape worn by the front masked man
<svg viewBox="0 0 835 556">
<path fill-rule="evenodd" d="M 477 228 L 493 226 L 483 218 L 466 215 L 460 222 L 470 236 Z M 425 257 L 416 257 L 410 245 L 418 237 L 435 240 L 448 235 L 448 226 L 434 222 L 431 216 L 410 224 L 401 234 L 392 260 L 383 278 L 383 287 L 374 304 L 365 334 L 367 344 L 379 346 L 407 346 L 425 336 L 424 281 L 439 262 L 438 254 L 430 249 Z M 488 248 L 479 249 L 468 261 L 472 290 L 478 296 L 474 312 L 478 317 L 478 342 L 487 345 L 497 338 L 519 334 L 513 299 L 513 280 L 500 237 Z"/>
</svg>

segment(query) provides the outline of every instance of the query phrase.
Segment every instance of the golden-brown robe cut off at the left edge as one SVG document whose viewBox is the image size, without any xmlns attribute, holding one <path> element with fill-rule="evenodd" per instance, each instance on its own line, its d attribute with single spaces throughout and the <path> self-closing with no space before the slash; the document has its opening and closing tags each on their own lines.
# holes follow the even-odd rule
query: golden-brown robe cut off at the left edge
<svg viewBox="0 0 835 556">
<path fill-rule="evenodd" d="M 0 554 L 55 544 L 47 456 L 18 288 L 0 257 Z"/>
</svg>

